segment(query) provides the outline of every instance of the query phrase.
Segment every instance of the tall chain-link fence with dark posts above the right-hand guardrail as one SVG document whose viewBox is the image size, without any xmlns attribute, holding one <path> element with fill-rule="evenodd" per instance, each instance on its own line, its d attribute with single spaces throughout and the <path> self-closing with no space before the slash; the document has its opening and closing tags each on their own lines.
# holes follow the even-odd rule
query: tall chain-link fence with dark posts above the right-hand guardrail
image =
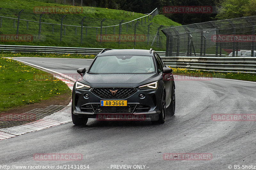
<svg viewBox="0 0 256 170">
<path fill-rule="evenodd" d="M 256 16 L 162 29 L 166 56 L 256 56 Z"/>
</svg>

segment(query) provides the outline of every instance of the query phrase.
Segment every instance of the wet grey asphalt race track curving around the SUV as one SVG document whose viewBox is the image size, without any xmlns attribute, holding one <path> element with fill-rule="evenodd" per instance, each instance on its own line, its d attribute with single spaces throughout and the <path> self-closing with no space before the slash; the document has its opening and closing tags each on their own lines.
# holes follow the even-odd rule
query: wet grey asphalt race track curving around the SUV
<svg viewBox="0 0 256 170">
<path fill-rule="evenodd" d="M 61 73 L 88 68 L 90 59 L 15 58 Z M 212 114 L 255 114 L 256 83 L 229 79 L 188 80 L 176 84 L 176 112 L 162 125 L 150 121 L 72 122 L 0 141 L 1 165 L 145 165 L 156 169 L 235 169 L 256 166 L 256 123 L 212 121 Z M 82 160 L 34 160 L 36 153 L 79 153 Z M 207 153 L 207 160 L 164 160 L 164 153 Z M 137 169 L 142 169 L 137 168 Z M 256 167 L 254 167 L 256 168 Z M 55 168 L 56 169 L 56 168 Z M 121 169 L 121 168 L 120 168 Z M 124 169 L 124 168 L 123 168 Z M 237 168 L 238 169 L 238 168 Z M 249 169 L 249 168 L 247 168 Z"/>
</svg>

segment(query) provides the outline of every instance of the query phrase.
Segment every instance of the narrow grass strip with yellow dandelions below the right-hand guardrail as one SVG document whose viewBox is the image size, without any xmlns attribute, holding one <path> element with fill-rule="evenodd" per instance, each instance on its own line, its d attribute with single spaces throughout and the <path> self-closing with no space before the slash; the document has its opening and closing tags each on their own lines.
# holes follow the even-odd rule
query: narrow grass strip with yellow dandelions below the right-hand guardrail
<svg viewBox="0 0 256 170">
<path fill-rule="evenodd" d="M 244 81 L 256 81 L 256 75 L 252 73 L 201 71 L 201 70 L 188 70 L 186 68 L 172 68 L 172 70 L 173 70 L 172 73 L 174 75 L 205 77 L 205 78 L 228 78 L 228 79 L 236 79 L 236 80 L 244 80 Z"/>
</svg>

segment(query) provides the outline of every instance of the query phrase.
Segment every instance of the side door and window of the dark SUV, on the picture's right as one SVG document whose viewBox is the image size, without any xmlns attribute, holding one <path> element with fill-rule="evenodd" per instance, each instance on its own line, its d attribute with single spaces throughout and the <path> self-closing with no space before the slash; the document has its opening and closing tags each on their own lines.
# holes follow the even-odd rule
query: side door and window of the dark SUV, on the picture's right
<svg viewBox="0 0 256 170">
<path fill-rule="evenodd" d="M 166 104 L 167 106 L 171 102 L 171 95 L 172 95 L 172 73 L 163 73 L 163 67 L 165 67 L 164 63 L 162 62 L 159 55 L 155 54 L 156 58 L 156 65 L 158 74 L 163 74 L 163 82 L 165 86 L 165 92 L 166 92 Z"/>
</svg>

